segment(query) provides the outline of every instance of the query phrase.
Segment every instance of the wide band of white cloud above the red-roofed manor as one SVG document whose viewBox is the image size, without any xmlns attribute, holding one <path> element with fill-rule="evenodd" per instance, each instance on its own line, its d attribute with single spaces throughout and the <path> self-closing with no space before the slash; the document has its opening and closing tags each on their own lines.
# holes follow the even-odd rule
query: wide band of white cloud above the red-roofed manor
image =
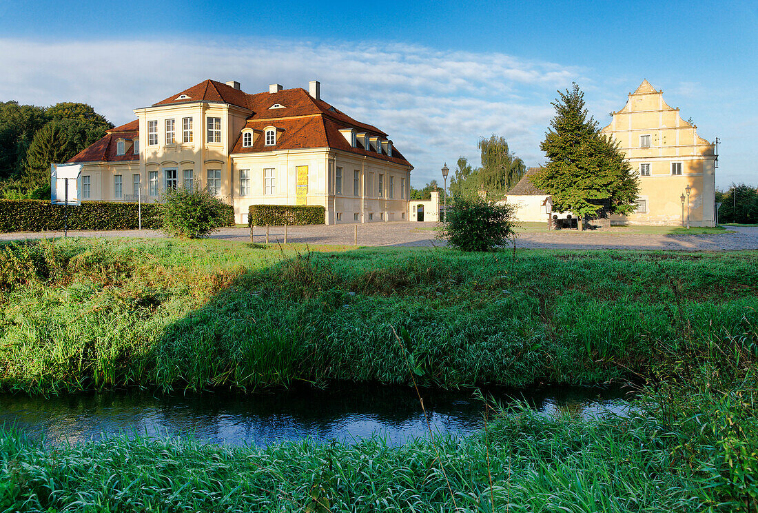
<svg viewBox="0 0 758 513">
<path fill-rule="evenodd" d="M 417 186 L 439 178 L 444 161 L 477 162 L 478 136 L 493 133 L 528 165 L 541 162 L 550 101 L 580 73 L 496 52 L 284 40 L 0 39 L 0 68 L 0 99 L 87 102 L 115 124 L 206 78 L 239 80 L 249 93 L 321 80 L 324 99 L 390 135 L 415 166 Z"/>
</svg>

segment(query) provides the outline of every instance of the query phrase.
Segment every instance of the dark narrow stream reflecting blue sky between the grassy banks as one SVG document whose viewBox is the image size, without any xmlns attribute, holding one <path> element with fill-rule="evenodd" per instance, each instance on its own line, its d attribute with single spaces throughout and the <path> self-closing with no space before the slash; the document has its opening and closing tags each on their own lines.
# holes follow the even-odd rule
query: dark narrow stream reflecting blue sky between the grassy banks
<svg viewBox="0 0 758 513">
<path fill-rule="evenodd" d="M 543 387 L 487 389 L 484 395 L 504 405 L 522 399 L 545 414 L 597 417 L 628 411 L 626 392 L 619 387 Z M 421 389 L 421 395 L 434 433 L 462 436 L 481 429 L 484 403 L 471 390 Z M 14 424 L 53 445 L 114 433 L 194 436 L 212 443 L 256 446 L 305 438 L 352 442 L 372 435 L 402 445 L 428 435 L 414 389 L 355 384 L 255 395 L 0 395 L 0 423 Z"/>
</svg>

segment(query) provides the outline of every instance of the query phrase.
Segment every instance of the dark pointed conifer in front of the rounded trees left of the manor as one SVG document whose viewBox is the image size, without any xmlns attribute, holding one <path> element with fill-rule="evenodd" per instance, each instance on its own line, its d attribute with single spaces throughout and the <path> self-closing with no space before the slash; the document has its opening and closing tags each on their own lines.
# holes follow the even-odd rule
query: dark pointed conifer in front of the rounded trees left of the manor
<svg viewBox="0 0 758 513">
<path fill-rule="evenodd" d="M 60 124 L 50 121 L 40 128 L 27 151 L 21 183 L 27 189 L 50 186 L 50 164 L 66 162 L 77 152 L 70 145 L 67 134 Z"/>
</svg>

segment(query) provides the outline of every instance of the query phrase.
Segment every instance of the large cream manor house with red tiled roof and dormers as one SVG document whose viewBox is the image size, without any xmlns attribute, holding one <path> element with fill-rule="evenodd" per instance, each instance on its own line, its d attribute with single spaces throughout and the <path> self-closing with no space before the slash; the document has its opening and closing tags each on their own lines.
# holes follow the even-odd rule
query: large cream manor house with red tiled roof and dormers
<svg viewBox="0 0 758 513">
<path fill-rule="evenodd" d="M 322 205 L 328 224 L 405 220 L 413 166 L 320 89 L 248 94 L 205 80 L 135 109 L 69 160 L 83 164 L 82 198 L 154 202 L 168 187 L 208 187 L 240 223 L 252 204 Z"/>
</svg>

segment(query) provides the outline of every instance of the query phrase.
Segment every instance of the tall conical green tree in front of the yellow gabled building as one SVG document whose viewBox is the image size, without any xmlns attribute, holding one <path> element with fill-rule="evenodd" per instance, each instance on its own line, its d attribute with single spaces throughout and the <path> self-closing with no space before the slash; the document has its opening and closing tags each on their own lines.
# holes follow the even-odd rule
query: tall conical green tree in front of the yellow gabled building
<svg viewBox="0 0 758 513">
<path fill-rule="evenodd" d="M 548 162 L 532 182 L 550 194 L 556 211 L 580 218 L 632 212 L 638 182 L 619 143 L 587 118 L 584 93 L 576 83 L 558 94 L 551 103 L 556 115 L 540 144 Z"/>
</svg>

